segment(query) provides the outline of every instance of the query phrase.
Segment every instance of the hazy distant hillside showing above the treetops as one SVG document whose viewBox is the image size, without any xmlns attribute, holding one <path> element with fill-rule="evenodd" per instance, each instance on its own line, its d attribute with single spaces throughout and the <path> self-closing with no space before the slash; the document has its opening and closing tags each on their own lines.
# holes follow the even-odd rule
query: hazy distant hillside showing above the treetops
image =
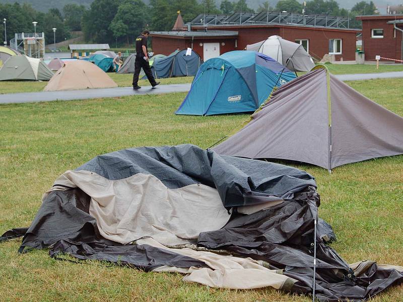
<svg viewBox="0 0 403 302">
<path fill-rule="evenodd" d="M 198 0 L 201 2 L 201 0 Z M 231 1 L 236 1 L 236 0 L 231 0 Z M 303 0 L 298 0 L 299 2 L 303 2 Z M 339 0 L 339 4 L 341 8 L 345 9 L 351 9 L 357 2 L 361 0 Z M 0 4 L 4 3 L 14 3 L 14 2 L 19 2 L 19 3 L 29 3 L 32 5 L 33 8 L 35 8 L 38 11 L 42 12 L 47 12 L 51 8 L 57 8 L 61 10 L 64 5 L 70 4 L 70 3 L 75 3 L 79 5 L 85 5 L 85 6 L 90 6 L 90 4 L 93 2 L 93 0 L 0 0 Z M 148 4 L 150 1 L 149 0 L 144 0 L 146 4 Z M 257 10 L 259 5 L 265 0 L 246 0 L 248 3 L 248 6 L 254 10 Z M 269 0 L 268 1 L 271 6 L 275 6 L 278 0 Z M 397 5 L 401 4 L 403 0 L 373 0 L 375 5 L 378 7 L 379 11 L 381 14 L 384 14 L 386 12 L 386 7 L 387 5 Z M 221 3 L 221 0 L 216 0 L 217 6 Z"/>
</svg>

